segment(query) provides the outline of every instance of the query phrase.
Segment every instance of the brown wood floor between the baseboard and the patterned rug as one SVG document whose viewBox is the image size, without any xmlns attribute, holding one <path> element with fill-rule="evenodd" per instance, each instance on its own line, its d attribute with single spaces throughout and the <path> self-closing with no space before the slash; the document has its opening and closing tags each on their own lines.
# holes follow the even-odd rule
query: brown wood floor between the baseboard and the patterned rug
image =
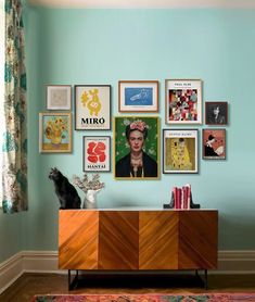
<svg viewBox="0 0 255 302">
<path fill-rule="evenodd" d="M 255 275 L 208 275 L 205 291 L 194 275 L 88 276 L 68 291 L 67 276 L 24 274 L 2 294 L 0 302 L 27 302 L 43 293 L 202 293 L 255 292 Z"/>
</svg>

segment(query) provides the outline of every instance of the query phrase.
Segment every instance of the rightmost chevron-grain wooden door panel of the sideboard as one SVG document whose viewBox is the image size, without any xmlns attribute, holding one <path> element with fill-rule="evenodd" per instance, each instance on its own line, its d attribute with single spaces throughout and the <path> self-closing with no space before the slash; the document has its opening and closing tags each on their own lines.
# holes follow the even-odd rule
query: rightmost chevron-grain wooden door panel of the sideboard
<svg viewBox="0 0 255 302">
<path fill-rule="evenodd" d="M 217 211 L 179 212 L 180 269 L 217 268 Z"/>
</svg>

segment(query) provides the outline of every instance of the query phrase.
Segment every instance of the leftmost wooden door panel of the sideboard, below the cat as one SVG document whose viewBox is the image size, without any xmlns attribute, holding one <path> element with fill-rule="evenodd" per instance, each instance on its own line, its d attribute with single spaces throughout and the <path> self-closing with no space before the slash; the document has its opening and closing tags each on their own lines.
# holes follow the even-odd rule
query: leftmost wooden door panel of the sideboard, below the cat
<svg viewBox="0 0 255 302">
<path fill-rule="evenodd" d="M 59 267 L 98 269 L 99 212 L 60 211 Z"/>
</svg>

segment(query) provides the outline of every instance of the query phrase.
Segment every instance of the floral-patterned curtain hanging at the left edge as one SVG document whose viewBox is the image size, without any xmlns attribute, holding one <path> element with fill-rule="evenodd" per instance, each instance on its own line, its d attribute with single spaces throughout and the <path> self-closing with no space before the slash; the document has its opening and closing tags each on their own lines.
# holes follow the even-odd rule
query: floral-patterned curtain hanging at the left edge
<svg viewBox="0 0 255 302">
<path fill-rule="evenodd" d="M 27 130 L 24 27 L 20 0 L 5 0 L 4 213 L 27 210 Z"/>
</svg>

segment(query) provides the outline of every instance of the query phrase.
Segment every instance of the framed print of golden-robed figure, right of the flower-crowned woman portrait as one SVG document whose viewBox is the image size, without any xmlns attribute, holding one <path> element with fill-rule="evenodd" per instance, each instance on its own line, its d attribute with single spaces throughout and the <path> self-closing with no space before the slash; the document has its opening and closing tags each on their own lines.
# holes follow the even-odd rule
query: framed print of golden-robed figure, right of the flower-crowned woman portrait
<svg viewBox="0 0 255 302">
<path fill-rule="evenodd" d="M 197 129 L 163 129 L 163 173 L 197 173 Z"/>
</svg>

